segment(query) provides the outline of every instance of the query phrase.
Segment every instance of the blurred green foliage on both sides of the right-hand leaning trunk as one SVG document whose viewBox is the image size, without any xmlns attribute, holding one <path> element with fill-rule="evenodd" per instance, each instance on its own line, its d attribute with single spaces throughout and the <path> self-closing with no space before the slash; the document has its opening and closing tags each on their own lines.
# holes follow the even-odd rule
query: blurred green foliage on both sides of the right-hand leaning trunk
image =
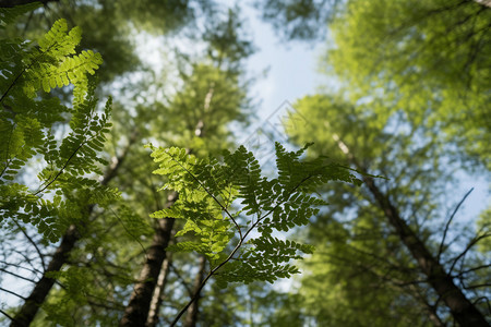
<svg viewBox="0 0 491 327">
<path fill-rule="evenodd" d="M 458 166 L 448 160 L 448 145 L 439 137 L 441 131 L 416 124 L 405 112 L 391 112 L 383 101 L 350 104 L 319 94 L 299 99 L 295 108 L 297 114 L 309 118 L 308 124 L 288 130 L 295 143 L 302 144 L 315 135 L 308 155 L 328 154 L 338 162 L 390 178 L 375 182 L 438 256 L 447 221 L 445 213 L 458 186 L 454 170 Z M 446 324 L 450 317 L 444 304 L 423 282 L 427 277 L 370 190 L 328 183 L 318 191 L 330 206 L 312 219 L 304 234 L 316 251 L 301 267 L 298 292 L 304 299 L 303 313 L 320 326 L 432 326 L 436 315 Z M 469 246 L 486 246 L 486 219 L 484 213 L 477 233 L 471 217 L 466 217 L 462 226 L 454 221 L 450 227 L 448 234 L 458 238 L 450 241 L 447 237 L 441 262 L 450 271 L 448 263 L 463 249 L 468 250 L 458 264 L 465 272 L 453 272 L 462 284 L 486 284 L 487 253 Z M 479 303 L 477 299 L 486 294 L 483 287 L 468 296 Z M 479 307 L 487 313 L 484 306 L 482 301 Z"/>
</svg>

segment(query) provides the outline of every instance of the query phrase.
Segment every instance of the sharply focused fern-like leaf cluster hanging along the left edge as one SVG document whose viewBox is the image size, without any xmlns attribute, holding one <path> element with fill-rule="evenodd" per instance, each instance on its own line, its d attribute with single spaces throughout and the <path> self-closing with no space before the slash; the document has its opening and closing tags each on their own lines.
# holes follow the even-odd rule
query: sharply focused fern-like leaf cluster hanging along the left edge
<svg viewBox="0 0 491 327">
<path fill-rule="evenodd" d="M 33 5 L 2 9 L 2 28 Z M 89 174 L 100 174 L 97 156 L 109 131 L 110 100 L 97 109 L 95 84 L 88 74 L 101 63 L 92 51 L 75 52 L 81 31 L 57 21 L 37 45 L 22 39 L 0 40 L 0 222 L 21 219 L 37 226 L 56 242 L 65 227 L 83 217 L 86 204 L 115 198 Z M 73 106 L 49 97 L 55 87 L 73 85 Z M 41 92 L 44 90 L 44 93 Z M 69 122 L 65 135 L 56 126 Z M 33 162 L 41 167 L 37 179 Z M 22 178 L 37 189 L 22 183 Z M 34 181 L 33 181 L 34 180 Z M 80 198 L 86 201 L 79 204 Z"/>
</svg>

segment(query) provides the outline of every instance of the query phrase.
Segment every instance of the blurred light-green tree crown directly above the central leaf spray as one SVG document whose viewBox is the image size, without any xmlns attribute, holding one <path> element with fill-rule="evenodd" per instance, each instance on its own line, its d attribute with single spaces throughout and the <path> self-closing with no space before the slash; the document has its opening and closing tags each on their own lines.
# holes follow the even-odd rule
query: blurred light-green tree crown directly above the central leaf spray
<svg viewBox="0 0 491 327">
<path fill-rule="evenodd" d="M 240 82 L 237 72 L 230 72 L 202 60 L 192 63 L 189 71 L 181 71 L 182 86 L 172 95 L 169 104 L 155 104 L 153 116 L 163 116 L 157 121 L 148 117 L 155 125 L 153 135 L 173 146 L 191 147 L 195 152 L 202 149 L 219 153 L 229 141 L 230 121 L 246 122 L 250 99 L 247 97 L 247 85 Z M 141 114 L 148 116 L 148 109 L 139 108 Z M 139 112 L 140 113 L 140 112 Z M 196 128 L 201 134 L 196 135 Z M 212 146 L 214 148 L 212 148 Z M 207 152 L 203 152 L 207 155 Z"/>
</svg>

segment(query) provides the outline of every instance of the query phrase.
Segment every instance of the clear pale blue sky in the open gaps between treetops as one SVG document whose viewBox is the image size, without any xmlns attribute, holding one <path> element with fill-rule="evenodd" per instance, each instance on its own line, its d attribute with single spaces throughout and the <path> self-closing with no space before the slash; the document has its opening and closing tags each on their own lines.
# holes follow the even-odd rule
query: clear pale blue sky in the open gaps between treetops
<svg viewBox="0 0 491 327">
<path fill-rule="evenodd" d="M 267 74 L 260 77 L 251 89 L 251 94 L 261 100 L 256 109 L 259 121 L 255 125 L 258 125 L 285 104 L 295 104 L 297 99 L 314 94 L 320 84 L 327 82 L 325 76 L 316 73 L 318 58 L 324 49 L 324 44 L 294 41 L 286 45 L 275 35 L 270 24 L 260 20 L 254 9 L 243 5 L 243 14 L 258 49 L 248 60 L 248 72 L 254 77 L 267 70 Z M 147 47 L 152 47 L 152 43 L 147 43 Z M 143 52 L 149 53 L 148 49 Z M 475 217 L 487 206 L 490 196 L 486 180 L 463 175 L 462 183 L 454 194 L 456 201 L 470 187 L 475 190 L 459 213 L 462 216 Z"/>
</svg>

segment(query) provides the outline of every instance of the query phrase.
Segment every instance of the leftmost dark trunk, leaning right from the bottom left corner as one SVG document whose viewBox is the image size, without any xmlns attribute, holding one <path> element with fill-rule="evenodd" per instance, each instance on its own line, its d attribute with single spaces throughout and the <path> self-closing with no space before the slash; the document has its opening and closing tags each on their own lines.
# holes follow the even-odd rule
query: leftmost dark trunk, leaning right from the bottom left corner
<svg viewBox="0 0 491 327">
<path fill-rule="evenodd" d="M 100 182 L 101 185 L 107 185 L 117 175 L 119 168 L 124 161 L 124 158 L 127 157 L 131 145 L 135 143 L 136 137 L 137 133 L 133 131 L 128 146 L 119 157 L 115 158 L 113 164 L 107 170 L 103 181 Z M 94 205 L 88 206 L 87 217 L 91 216 L 93 210 Z M 61 267 L 67 263 L 70 253 L 75 247 L 75 243 L 79 240 L 80 233 L 77 231 L 77 228 L 75 225 L 71 225 L 64 232 L 61 239 L 61 243 L 60 245 L 58 245 L 58 249 L 55 252 L 55 255 L 51 258 L 48 268 L 43 274 L 43 277 L 39 279 L 39 281 L 36 282 L 36 286 L 25 300 L 19 313 L 13 317 L 13 320 L 10 325 L 11 327 L 27 327 L 33 323 L 34 317 L 39 310 L 39 306 L 45 302 L 46 298 L 49 294 L 49 291 L 51 290 L 56 281 L 53 278 L 47 277 L 47 275 L 49 275 L 49 272 L 60 271 Z"/>
</svg>

